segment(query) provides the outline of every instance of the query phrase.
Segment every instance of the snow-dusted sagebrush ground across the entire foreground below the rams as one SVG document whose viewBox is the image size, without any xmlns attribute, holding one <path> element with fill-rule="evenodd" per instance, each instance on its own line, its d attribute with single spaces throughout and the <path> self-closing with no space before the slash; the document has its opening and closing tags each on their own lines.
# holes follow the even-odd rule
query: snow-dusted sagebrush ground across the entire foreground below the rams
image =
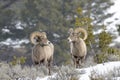
<svg viewBox="0 0 120 80">
<path fill-rule="evenodd" d="M 75 69 L 71 66 L 54 66 L 47 75 L 45 66 L 10 66 L 0 63 L 0 80 L 119 80 L 120 61 Z"/>
</svg>

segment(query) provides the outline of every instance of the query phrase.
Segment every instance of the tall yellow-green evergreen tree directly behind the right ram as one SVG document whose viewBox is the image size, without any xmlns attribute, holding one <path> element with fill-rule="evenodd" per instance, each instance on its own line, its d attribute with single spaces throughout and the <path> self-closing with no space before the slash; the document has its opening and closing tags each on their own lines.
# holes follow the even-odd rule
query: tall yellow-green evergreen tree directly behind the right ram
<svg viewBox="0 0 120 80">
<path fill-rule="evenodd" d="M 77 9 L 76 12 L 78 15 L 75 20 L 75 26 L 82 27 L 87 30 L 88 38 L 86 40 L 86 44 L 88 46 L 88 51 L 92 50 L 92 52 L 94 53 L 93 44 L 95 44 L 95 37 L 93 35 L 94 28 L 93 25 L 91 25 L 92 19 L 90 17 L 85 17 L 83 15 L 83 10 L 80 7 Z"/>
</svg>

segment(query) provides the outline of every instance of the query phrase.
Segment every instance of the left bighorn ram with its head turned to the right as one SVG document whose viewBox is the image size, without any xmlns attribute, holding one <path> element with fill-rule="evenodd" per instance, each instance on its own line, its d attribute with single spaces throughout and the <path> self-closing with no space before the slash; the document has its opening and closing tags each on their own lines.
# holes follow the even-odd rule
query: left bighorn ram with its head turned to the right
<svg viewBox="0 0 120 80">
<path fill-rule="evenodd" d="M 30 35 L 30 41 L 34 44 L 32 49 L 32 61 L 34 64 L 45 64 L 51 74 L 50 67 L 53 62 L 54 45 L 47 39 L 45 32 L 35 31 Z"/>
</svg>

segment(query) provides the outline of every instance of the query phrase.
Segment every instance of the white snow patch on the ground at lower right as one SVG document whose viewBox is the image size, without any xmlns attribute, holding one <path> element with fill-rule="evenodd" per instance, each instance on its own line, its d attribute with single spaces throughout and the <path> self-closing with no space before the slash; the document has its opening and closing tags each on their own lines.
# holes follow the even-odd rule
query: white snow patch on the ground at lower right
<svg viewBox="0 0 120 80">
<path fill-rule="evenodd" d="M 120 68 L 120 62 L 108 62 L 104 64 L 98 64 L 96 66 L 91 66 L 89 68 L 78 69 L 78 71 L 84 71 L 85 74 L 80 75 L 79 80 L 90 80 L 92 72 L 95 71 L 96 75 L 106 75 L 109 72 L 114 71 L 115 68 Z"/>
</svg>

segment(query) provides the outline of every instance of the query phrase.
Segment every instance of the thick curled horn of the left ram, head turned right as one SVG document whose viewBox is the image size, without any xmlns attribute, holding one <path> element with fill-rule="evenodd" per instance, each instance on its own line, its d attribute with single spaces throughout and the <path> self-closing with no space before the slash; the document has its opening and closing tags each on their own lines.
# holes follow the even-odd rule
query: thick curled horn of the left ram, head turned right
<svg viewBox="0 0 120 80">
<path fill-rule="evenodd" d="M 37 42 L 36 39 L 37 39 L 37 38 L 40 38 L 41 35 L 43 35 L 43 33 L 39 32 L 39 31 L 32 32 L 32 33 L 30 34 L 30 42 L 31 42 L 32 44 L 37 44 L 38 42 Z M 46 35 L 44 35 L 44 36 L 47 38 Z"/>
</svg>

